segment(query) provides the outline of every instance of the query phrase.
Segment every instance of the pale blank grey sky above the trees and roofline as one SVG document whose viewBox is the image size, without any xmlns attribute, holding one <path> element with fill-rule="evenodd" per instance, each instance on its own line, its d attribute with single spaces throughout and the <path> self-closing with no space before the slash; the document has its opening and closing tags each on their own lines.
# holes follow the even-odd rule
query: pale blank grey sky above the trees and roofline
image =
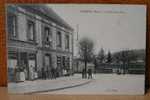
<svg viewBox="0 0 150 100">
<path fill-rule="evenodd" d="M 95 53 L 101 48 L 106 52 L 145 49 L 144 5 L 50 4 L 48 6 L 74 29 L 75 56 L 78 54 L 78 42 L 83 37 L 93 40 Z"/>
</svg>

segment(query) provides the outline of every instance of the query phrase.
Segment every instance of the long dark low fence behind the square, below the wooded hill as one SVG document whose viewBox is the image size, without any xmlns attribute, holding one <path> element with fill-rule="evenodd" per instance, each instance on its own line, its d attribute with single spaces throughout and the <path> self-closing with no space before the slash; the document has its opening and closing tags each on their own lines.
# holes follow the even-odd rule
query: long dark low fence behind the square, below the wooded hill
<svg viewBox="0 0 150 100">
<path fill-rule="evenodd" d="M 145 64 L 99 64 L 96 73 L 144 74 Z"/>
</svg>

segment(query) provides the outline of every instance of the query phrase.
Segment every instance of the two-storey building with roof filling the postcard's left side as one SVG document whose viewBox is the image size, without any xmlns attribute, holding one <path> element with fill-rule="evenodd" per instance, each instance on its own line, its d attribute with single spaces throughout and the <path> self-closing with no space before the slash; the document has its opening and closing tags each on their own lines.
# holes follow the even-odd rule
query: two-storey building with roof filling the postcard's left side
<svg viewBox="0 0 150 100">
<path fill-rule="evenodd" d="M 23 68 L 26 80 L 31 70 L 42 78 L 42 71 L 54 68 L 57 76 L 72 70 L 73 29 L 45 5 L 7 6 L 8 78 L 16 67 Z"/>
</svg>

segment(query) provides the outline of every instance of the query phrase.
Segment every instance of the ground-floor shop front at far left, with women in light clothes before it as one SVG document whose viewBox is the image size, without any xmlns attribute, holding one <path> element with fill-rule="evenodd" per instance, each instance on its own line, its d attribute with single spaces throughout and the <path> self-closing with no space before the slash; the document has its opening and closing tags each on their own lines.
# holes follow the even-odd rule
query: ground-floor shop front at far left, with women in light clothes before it
<svg viewBox="0 0 150 100">
<path fill-rule="evenodd" d="M 34 80 L 36 66 L 36 52 L 9 51 L 9 81 Z"/>
</svg>

